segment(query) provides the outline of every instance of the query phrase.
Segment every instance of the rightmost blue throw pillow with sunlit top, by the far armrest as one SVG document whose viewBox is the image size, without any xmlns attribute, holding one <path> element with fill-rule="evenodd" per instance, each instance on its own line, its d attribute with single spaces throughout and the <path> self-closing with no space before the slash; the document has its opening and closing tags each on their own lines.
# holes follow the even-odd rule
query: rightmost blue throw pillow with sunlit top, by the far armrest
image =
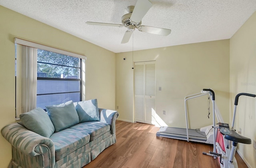
<svg viewBox="0 0 256 168">
<path fill-rule="evenodd" d="M 99 109 L 97 99 L 74 103 L 80 122 L 99 121 Z"/>
</svg>

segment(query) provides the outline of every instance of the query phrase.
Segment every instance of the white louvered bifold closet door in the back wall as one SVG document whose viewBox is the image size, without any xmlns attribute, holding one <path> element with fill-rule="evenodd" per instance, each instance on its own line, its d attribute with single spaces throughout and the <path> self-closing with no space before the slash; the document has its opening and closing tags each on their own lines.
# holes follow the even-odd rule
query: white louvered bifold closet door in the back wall
<svg viewBox="0 0 256 168">
<path fill-rule="evenodd" d="M 136 62 L 134 66 L 135 121 L 155 124 L 155 62 Z"/>
</svg>

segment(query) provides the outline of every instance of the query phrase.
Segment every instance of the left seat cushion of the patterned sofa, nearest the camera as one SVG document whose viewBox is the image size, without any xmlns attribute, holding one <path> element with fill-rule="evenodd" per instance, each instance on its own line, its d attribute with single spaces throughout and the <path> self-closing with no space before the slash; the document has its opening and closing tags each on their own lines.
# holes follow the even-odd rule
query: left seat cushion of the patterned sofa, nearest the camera
<svg viewBox="0 0 256 168">
<path fill-rule="evenodd" d="M 64 158 L 68 154 L 88 144 L 90 135 L 86 132 L 66 128 L 59 132 L 54 132 L 50 139 L 54 142 L 56 161 Z"/>
</svg>

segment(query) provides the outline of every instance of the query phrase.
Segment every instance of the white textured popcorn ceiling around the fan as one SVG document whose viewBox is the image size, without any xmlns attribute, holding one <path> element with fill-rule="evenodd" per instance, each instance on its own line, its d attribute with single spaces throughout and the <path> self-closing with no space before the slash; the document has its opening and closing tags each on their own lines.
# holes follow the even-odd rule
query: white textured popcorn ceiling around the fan
<svg viewBox="0 0 256 168">
<path fill-rule="evenodd" d="M 0 0 L 0 5 L 63 30 L 115 53 L 229 39 L 256 11 L 256 0 L 150 0 L 142 25 L 171 29 L 168 36 L 135 30 L 121 44 L 127 28 L 86 22 L 122 24 L 127 6 L 137 0 Z M 134 44 L 132 47 L 132 43 Z"/>
</svg>

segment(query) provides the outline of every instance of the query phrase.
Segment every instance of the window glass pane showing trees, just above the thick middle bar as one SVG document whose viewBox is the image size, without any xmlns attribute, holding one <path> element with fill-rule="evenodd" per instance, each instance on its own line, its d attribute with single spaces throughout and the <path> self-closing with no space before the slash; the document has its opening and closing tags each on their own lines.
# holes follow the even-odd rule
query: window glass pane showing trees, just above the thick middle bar
<svg viewBox="0 0 256 168">
<path fill-rule="evenodd" d="M 80 79 L 80 68 L 37 63 L 37 77 Z"/>
</svg>

